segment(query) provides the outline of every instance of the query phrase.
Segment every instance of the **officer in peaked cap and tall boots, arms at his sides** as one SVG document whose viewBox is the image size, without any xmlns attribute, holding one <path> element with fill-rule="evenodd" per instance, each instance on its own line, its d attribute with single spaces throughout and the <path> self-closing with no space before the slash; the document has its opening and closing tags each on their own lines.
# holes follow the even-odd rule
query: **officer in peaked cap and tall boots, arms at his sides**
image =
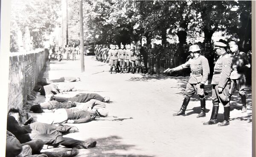
<svg viewBox="0 0 256 157">
<path fill-rule="evenodd" d="M 224 121 L 218 126 L 227 126 L 230 124 L 230 74 L 232 59 L 225 47 L 227 45 L 221 42 L 214 43 L 214 49 L 218 54 L 219 58 L 215 63 L 214 72 L 212 76 L 212 115 L 211 119 L 204 123 L 204 125 L 212 125 L 217 123 L 217 115 L 219 109 L 219 103 L 224 106 Z"/>
</svg>

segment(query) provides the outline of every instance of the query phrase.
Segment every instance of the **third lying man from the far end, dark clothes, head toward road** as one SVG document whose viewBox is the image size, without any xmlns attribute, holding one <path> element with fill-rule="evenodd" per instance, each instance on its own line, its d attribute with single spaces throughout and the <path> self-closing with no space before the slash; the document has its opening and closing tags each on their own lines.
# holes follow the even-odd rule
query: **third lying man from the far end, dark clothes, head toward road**
<svg viewBox="0 0 256 157">
<path fill-rule="evenodd" d="M 96 93 L 79 93 L 75 97 L 56 97 L 52 95 L 52 97 L 50 98 L 50 100 L 55 100 L 61 103 L 65 103 L 68 101 L 77 102 L 77 103 L 86 103 L 91 99 L 99 100 L 106 103 L 110 102 L 110 97 L 102 97 L 101 95 Z"/>
</svg>

